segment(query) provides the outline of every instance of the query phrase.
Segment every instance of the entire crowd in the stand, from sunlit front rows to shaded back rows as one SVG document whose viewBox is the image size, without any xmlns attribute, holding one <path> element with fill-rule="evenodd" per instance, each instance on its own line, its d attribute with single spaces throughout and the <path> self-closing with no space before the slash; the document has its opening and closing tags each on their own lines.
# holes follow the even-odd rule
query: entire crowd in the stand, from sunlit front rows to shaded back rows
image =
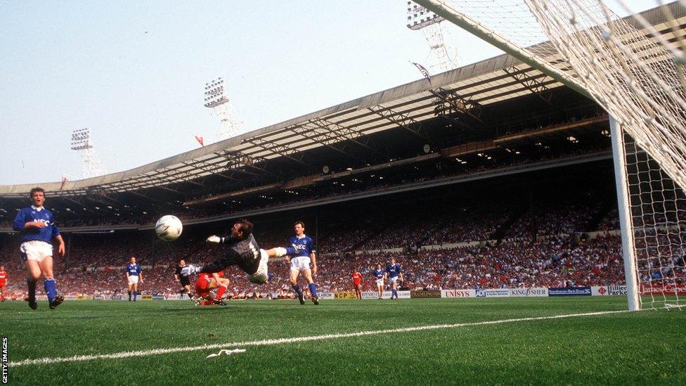
<svg viewBox="0 0 686 386">
<path fill-rule="evenodd" d="M 391 258 L 395 258 L 403 266 L 406 278 L 404 285 L 410 289 L 622 283 L 621 240 L 618 236 L 606 235 L 592 240 L 570 236 L 583 231 L 585 221 L 592 217 L 594 209 L 574 205 L 564 209 L 539 210 L 536 219 L 553 219 L 542 221 L 538 226 L 543 232 L 542 236 L 551 237 L 538 238 L 534 242 L 526 237 L 505 238 L 500 243 L 484 242 L 503 223 L 502 215 L 501 220 L 497 221 L 497 214 L 488 212 L 448 219 L 440 216 L 430 219 L 405 216 L 404 222 L 380 222 L 375 224 L 375 228 L 368 224 L 362 227 L 364 232 L 359 231 L 359 224 L 349 224 L 348 228 L 335 226 L 335 232 L 324 230 L 321 235 L 316 281 L 323 291 L 348 290 L 351 272 L 359 269 L 367 278 L 363 283 L 372 289 L 370 274 L 373 266 L 377 263 L 385 266 Z M 498 210 L 498 213 L 503 212 Z M 479 221 L 479 218 L 484 221 Z M 554 221 L 559 226 L 549 225 Z M 599 226 L 602 224 L 605 222 L 600 221 Z M 512 227 L 516 226 L 517 222 L 512 224 Z M 260 232 L 256 231 L 256 236 L 261 247 L 265 248 L 285 245 L 285 240 L 291 236 L 287 228 L 278 233 L 265 227 Z M 505 234 L 517 234 L 511 232 Z M 60 291 L 65 295 L 125 293 L 124 265 L 129 257 L 135 256 L 144 267 L 143 292 L 176 295 L 179 285 L 174 281 L 174 269 L 179 259 L 202 264 L 211 262 L 222 253 L 222 246 L 205 243 L 205 236 L 189 236 L 174 243 L 163 243 L 148 236 L 141 237 L 136 231 L 72 236 L 68 241 L 68 269 L 65 259 L 55 259 Z M 408 248 L 408 245 L 417 247 L 459 243 L 470 239 L 481 243 L 451 249 Z M 675 247 L 681 245 L 682 235 L 679 231 L 670 234 L 646 233 L 637 240 L 638 250 L 662 248 L 663 255 L 668 256 L 659 263 L 645 259 L 641 268 L 647 276 L 652 276 L 654 271 L 659 271 L 661 277 L 684 276 L 683 251 Z M 18 262 L 16 244 L 6 242 L 0 247 L 0 262 L 4 262 L 10 271 L 11 296 L 21 296 L 25 290 L 25 283 L 20 279 L 25 273 Z M 403 252 L 366 252 L 394 247 L 401 248 Z M 253 285 L 243 278 L 242 271 L 228 269 L 226 277 L 231 280 L 232 294 L 235 297 L 250 297 L 256 292 L 263 296 L 290 296 L 287 264 L 275 260 L 270 263 L 270 270 L 275 274 L 270 283 Z"/>
</svg>

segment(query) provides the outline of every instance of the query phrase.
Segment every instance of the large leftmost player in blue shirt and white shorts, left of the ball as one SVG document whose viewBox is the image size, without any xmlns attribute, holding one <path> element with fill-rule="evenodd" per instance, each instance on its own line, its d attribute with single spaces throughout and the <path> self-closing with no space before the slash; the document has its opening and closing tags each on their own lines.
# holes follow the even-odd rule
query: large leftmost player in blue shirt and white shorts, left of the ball
<svg viewBox="0 0 686 386">
<path fill-rule="evenodd" d="M 53 276 L 53 245 L 51 240 L 54 238 L 59 243 L 57 252 L 61 257 L 65 255 L 64 240 L 62 240 L 60 231 L 55 225 L 53 213 L 43 206 L 45 202 L 43 188 L 32 188 L 30 196 L 33 205 L 20 210 L 12 225 L 13 229 L 19 232 L 21 242 L 19 251 L 22 259 L 26 261 L 29 307 L 31 309 L 38 308 L 36 282 L 42 275 L 50 309 L 55 309 L 64 302 L 64 297 L 57 295 Z"/>
</svg>

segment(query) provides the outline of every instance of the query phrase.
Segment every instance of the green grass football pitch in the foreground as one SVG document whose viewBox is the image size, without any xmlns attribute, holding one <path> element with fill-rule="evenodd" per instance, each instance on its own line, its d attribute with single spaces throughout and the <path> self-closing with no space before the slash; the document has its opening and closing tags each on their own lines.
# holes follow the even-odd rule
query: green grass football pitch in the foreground
<svg viewBox="0 0 686 386">
<path fill-rule="evenodd" d="M 12 385 L 686 384 L 686 312 L 624 309 L 623 297 L 6 302 L 0 333 Z M 245 352 L 207 358 L 220 349 Z"/>
</svg>

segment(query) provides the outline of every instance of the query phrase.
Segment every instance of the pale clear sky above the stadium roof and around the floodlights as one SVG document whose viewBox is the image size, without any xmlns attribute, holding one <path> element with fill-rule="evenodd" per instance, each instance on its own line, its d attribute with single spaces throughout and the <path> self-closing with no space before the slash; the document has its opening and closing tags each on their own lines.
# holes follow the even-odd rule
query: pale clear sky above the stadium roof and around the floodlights
<svg viewBox="0 0 686 386">
<path fill-rule="evenodd" d="M 81 176 L 83 127 L 108 172 L 193 149 L 219 129 L 202 106 L 215 77 L 245 129 L 419 79 L 408 62 L 429 48 L 405 4 L 0 0 L 0 184 Z M 453 28 L 462 64 L 498 54 Z"/>
</svg>

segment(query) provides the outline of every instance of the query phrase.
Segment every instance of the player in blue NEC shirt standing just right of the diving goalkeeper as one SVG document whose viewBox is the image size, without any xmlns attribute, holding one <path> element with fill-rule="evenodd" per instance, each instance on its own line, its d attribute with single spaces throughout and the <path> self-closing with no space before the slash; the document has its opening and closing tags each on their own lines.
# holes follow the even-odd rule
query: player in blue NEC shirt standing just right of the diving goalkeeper
<svg viewBox="0 0 686 386">
<path fill-rule="evenodd" d="M 298 285 L 300 273 L 305 276 L 307 285 L 312 294 L 312 302 L 319 304 L 317 295 L 317 285 L 312 280 L 312 276 L 317 274 L 317 259 L 314 240 L 305 234 L 305 224 L 302 221 L 295 223 L 295 236 L 288 240 L 290 247 L 287 247 L 286 263 L 290 264 L 290 285 L 298 295 L 300 304 L 305 304 L 305 297 L 302 288 Z M 310 264 L 312 268 L 310 269 Z"/>
</svg>

